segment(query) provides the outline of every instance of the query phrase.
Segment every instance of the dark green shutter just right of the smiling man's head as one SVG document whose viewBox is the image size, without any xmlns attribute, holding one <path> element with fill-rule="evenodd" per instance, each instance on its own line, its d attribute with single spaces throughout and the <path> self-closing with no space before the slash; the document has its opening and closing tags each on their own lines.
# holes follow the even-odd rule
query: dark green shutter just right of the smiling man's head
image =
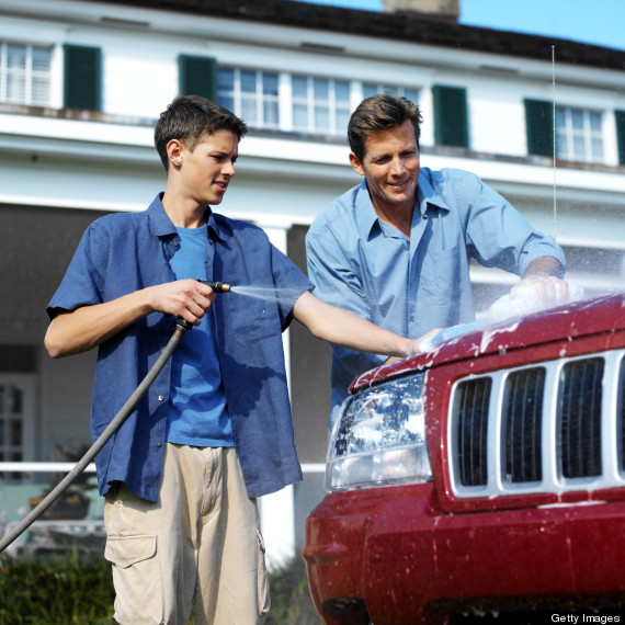
<svg viewBox="0 0 625 625">
<path fill-rule="evenodd" d="M 432 87 L 434 141 L 442 146 L 468 148 L 467 92 L 462 87 Z"/>
</svg>

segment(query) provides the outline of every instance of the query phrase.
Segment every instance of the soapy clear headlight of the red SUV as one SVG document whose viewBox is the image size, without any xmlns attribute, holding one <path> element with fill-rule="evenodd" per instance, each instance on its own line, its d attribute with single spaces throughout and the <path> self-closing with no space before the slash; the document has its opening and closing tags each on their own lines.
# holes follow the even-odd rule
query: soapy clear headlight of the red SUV
<svg viewBox="0 0 625 625">
<path fill-rule="evenodd" d="M 432 480 L 418 374 L 349 397 L 332 431 L 326 489 Z"/>
</svg>

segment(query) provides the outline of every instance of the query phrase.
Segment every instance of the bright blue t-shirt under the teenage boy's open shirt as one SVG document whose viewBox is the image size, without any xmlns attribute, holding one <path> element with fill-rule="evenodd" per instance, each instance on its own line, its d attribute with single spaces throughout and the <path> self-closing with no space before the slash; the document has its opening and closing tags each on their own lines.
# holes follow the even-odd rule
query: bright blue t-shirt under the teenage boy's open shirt
<svg viewBox="0 0 625 625">
<path fill-rule="evenodd" d="M 171 259 L 177 280 L 207 280 L 207 225 L 175 227 L 180 243 Z M 215 343 L 215 321 L 209 309 L 200 326 L 186 332 L 171 357 L 171 393 L 166 440 L 196 447 L 231 447 L 232 425 L 226 408 Z"/>
</svg>

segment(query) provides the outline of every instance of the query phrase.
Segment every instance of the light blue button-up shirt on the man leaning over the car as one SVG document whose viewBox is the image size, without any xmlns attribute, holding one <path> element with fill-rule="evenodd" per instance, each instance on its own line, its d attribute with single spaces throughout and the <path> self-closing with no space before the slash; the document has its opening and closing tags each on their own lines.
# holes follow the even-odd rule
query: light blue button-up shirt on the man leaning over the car
<svg viewBox="0 0 625 625">
<path fill-rule="evenodd" d="M 421 168 L 410 239 L 377 217 L 363 180 L 315 219 L 306 252 L 319 298 L 410 338 L 474 320 L 471 258 L 516 275 L 545 255 L 565 266 L 553 237 L 454 169 Z M 333 345 L 331 420 L 354 377 L 385 360 Z"/>
</svg>

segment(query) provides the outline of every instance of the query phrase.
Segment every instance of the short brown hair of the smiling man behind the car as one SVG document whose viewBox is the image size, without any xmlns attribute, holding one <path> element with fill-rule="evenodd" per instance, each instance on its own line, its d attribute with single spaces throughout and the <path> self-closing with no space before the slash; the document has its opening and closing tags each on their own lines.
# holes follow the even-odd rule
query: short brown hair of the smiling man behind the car
<svg viewBox="0 0 625 625">
<path fill-rule="evenodd" d="M 363 100 L 352 113 L 348 124 L 348 139 L 351 150 L 362 162 L 365 141 L 378 130 L 400 126 L 410 120 L 419 147 L 421 136 L 421 112 L 419 106 L 407 98 L 393 93 L 377 93 Z"/>
</svg>

